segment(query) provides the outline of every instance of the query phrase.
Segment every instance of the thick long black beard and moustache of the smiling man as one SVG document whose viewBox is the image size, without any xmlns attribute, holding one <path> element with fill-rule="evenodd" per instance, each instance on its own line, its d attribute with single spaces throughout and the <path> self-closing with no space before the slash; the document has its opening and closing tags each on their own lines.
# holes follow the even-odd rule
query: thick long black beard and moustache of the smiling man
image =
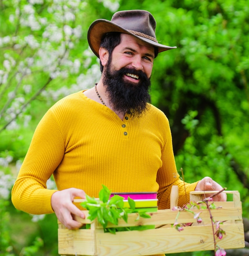
<svg viewBox="0 0 249 256">
<path fill-rule="evenodd" d="M 150 79 L 141 70 L 123 67 L 113 70 L 111 60 L 108 61 L 103 72 L 103 85 L 112 108 L 125 115 L 129 113 L 133 117 L 139 117 L 150 103 Z M 139 83 L 126 81 L 127 74 L 139 76 Z"/>
</svg>

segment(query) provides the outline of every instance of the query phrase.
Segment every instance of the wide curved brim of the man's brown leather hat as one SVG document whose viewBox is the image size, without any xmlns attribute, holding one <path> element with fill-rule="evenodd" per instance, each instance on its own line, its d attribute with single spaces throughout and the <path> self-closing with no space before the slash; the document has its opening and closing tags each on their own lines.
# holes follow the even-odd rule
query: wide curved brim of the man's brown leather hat
<svg viewBox="0 0 249 256">
<path fill-rule="evenodd" d="M 158 52 L 164 52 L 170 49 L 177 48 L 176 46 L 171 47 L 167 45 L 162 45 L 148 38 L 137 36 L 132 32 L 130 32 L 129 30 L 124 29 L 123 27 L 117 25 L 114 22 L 111 22 L 110 20 L 99 19 L 92 22 L 92 24 L 88 29 L 88 34 L 87 34 L 87 40 L 88 40 L 89 46 L 98 58 L 99 58 L 99 47 L 100 47 L 101 40 L 105 34 L 111 33 L 111 32 L 120 32 L 120 33 L 125 33 L 125 34 L 130 34 L 132 36 L 135 36 L 136 38 L 139 38 L 140 40 L 150 45 L 153 45 L 154 47 L 157 47 Z"/>
</svg>

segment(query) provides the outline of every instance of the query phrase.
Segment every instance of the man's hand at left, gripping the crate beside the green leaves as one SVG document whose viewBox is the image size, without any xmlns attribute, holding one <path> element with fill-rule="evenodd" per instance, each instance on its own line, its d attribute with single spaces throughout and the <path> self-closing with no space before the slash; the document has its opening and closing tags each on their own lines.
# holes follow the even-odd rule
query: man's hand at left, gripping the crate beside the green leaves
<svg viewBox="0 0 249 256">
<path fill-rule="evenodd" d="M 64 189 L 56 191 L 51 197 L 51 205 L 58 220 L 68 229 L 82 226 L 80 222 L 73 220 L 72 214 L 85 218 L 85 214 L 72 203 L 76 196 L 85 198 L 85 192 L 81 189 Z"/>
</svg>

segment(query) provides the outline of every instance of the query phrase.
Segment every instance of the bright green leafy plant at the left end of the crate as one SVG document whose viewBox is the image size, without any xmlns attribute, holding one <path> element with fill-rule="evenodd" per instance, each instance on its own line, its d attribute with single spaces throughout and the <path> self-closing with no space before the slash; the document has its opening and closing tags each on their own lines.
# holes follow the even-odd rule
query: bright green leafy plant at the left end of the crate
<svg viewBox="0 0 249 256">
<path fill-rule="evenodd" d="M 112 198 L 110 198 L 110 194 L 111 191 L 105 185 L 102 185 L 102 189 L 99 191 L 99 199 L 85 195 L 86 200 L 81 203 L 82 207 L 89 210 L 89 216 L 87 218 L 90 220 L 97 218 L 99 223 L 103 226 L 105 232 L 115 234 L 116 231 L 145 230 L 155 228 L 155 225 L 116 228 L 107 227 L 108 222 L 118 225 L 119 219 L 123 219 L 127 223 L 129 213 L 138 213 L 137 220 L 139 220 L 140 217 L 150 218 L 150 215 L 146 213 L 145 210 L 136 209 L 135 201 L 130 197 L 128 198 L 130 208 L 128 208 L 124 207 L 123 197 L 120 195 L 114 195 Z M 86 226 L 86 228 L 89 228 L 89 226 Z"/>
</svg>

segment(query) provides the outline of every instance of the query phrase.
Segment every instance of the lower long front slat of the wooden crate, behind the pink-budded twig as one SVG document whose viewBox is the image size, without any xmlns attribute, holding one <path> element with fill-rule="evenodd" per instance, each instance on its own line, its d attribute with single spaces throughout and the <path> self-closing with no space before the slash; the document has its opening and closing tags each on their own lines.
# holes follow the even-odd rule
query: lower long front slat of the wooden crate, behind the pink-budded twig
<svg viewBox="0 0 249 256">
<path fill-rule="evenodd" d="M 200 229 L 201 228 L 201 229 Z M 245 247 L 242 224 L 226 225 L 226 236 L 218 241 L 224 249 Z M 139 238 L 139 239 L 138 239 Z M 174 228 L 145 231 L 123 231 L 116 235 L 97 234 L 98 256 L 141 256 L 213 250 L 211 226 L 185 227 L 179 232 Z"/>
</svg>

